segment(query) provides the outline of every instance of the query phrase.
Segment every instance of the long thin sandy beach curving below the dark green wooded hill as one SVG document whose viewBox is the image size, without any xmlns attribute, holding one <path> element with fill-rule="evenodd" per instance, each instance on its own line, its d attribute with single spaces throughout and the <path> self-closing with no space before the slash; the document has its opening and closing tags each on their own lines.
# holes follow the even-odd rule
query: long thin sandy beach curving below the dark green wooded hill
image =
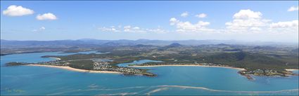
<svg viewBox="0 0 299 96">
<path fill-rule="evenodd" d="M 184 66 L 184 67 L 220 67 L 220 66 L 205 66 L 205 65 L 196 65 L 196 64 L 169 64 L 169 65 L 151 65 L 151 66 L 129 66 L 129 67 L 179 67 L 179 66 Z M 241 69 L 241 68 L 236 68 L 236 67 L 222 67 L 222 68 L 229 68 L 229 69 L 238 69 L 238 70 L 246 70 L 246 69 Z"/>
</svg>

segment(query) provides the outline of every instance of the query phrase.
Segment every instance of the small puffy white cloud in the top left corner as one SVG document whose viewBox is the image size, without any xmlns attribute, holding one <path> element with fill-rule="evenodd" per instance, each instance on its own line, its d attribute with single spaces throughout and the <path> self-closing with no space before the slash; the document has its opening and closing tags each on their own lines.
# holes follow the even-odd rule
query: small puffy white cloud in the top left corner
<svg viewBox="0 0 299 96">
<path fill-rule="evenodd" d="M 2 13 L 8 16 L 22 16 L 22 15 L 31 15 L 34 13 L 34 11 L 32 11 L 29 8 L 23 8 L 23 6 L 12 5 L 12 6 L 8 6 L 8 8 L 4 10 Z"/>
</svg>

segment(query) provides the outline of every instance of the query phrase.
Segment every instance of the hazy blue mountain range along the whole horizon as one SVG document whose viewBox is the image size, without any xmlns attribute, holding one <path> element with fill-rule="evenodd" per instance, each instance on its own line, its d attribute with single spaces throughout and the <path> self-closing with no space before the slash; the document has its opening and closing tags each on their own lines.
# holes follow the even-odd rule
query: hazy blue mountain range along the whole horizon
<svg viewBox="0 0 299 96">
<path fill-rule="evenodd" d="M 78 39 L 78 40 L 57 40 L 57 41 L 11 41 L 1 39 L 1 48 L 28 48 L 28 47 L 94 47 L 94 46 L 135 46 L 154 45 L 154 46 L 179 46 L 179 45 L 206 45 L 218 44 L 218 46 L 229 46 L 230 44 L 246 44 L 246 45 L 279 45 L 293 44 L 298 46 L 298 43 L 273 43 L 273 42 L 244 42 L 234 40 L 182 40 L 182 41 L 163 41 L 163 40 L 98 40 L 98 39 Z M 265 47 L 257 47 L 265 48 Z M 267 49 L 267 48 L 265 48 Z"/>
</svg>

